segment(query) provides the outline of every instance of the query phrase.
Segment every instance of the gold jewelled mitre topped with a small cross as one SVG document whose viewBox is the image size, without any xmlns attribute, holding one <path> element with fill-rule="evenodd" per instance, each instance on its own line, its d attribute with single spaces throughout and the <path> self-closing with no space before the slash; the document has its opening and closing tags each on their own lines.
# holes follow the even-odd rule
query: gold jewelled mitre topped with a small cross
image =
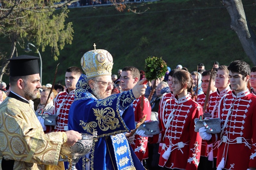
<svg viewBox="0 0 256 170">
<path fill-rule="evenodd" d="M 104 49 L 86 52 L 81 58 L 81 66 L 87 78 L 110 75 L 113 67 L 112 55 Z"/>
</svg>

